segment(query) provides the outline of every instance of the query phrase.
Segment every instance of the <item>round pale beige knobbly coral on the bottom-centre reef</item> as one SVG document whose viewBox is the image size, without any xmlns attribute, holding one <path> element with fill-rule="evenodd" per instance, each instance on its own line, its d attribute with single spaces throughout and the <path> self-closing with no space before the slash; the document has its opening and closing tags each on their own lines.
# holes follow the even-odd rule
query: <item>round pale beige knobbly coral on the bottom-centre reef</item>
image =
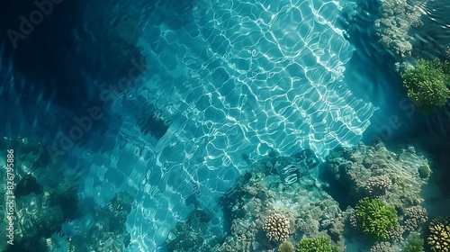
<svg viewBox="0 0 450 252">
<path fill-rule="evenodd" d="M 287 239 L 289 237 L 290 227 L 289 220 L 280 213 L 269 215 L 263 225 L 266 236 L 270 240 Z"/>
</svg>

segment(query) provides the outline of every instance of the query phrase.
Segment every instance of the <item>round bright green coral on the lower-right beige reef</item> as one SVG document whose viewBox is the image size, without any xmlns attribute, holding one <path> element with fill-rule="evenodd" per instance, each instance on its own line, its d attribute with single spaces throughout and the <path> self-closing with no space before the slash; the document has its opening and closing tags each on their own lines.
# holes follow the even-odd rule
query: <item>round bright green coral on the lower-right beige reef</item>
<svg viewBox="0 0 450 252">
<path fill-rule="evenodd" d="M 373 241 L 389 239 L 391 231 L 399 226 L 395 208 L 379 199 L 360 200 L 355 207 L 355 217 L 364 237 Z"/>
</svg>

